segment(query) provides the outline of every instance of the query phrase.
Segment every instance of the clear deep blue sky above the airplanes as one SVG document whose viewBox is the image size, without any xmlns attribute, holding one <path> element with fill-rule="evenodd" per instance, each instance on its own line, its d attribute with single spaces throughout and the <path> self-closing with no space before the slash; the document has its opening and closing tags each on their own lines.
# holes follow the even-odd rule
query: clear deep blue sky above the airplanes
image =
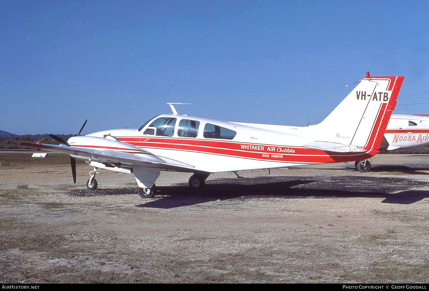
<svg viewBox="0 0 429 291">
<path fill-rule="evenodd" d="M 77 133 L 85 119 L 84 134 L 138 128 L 170 113 L 166 102 L 192 103 L 177 107 L 183 114 L 304 126 L 366 71 L 405 76 L 399 95 L 426 92 L 428 3 L 3 0 L 0 130 Z M 428 96 L 399 98 L 394 113 L 429 114 L 414 104 Z"/>
</svg>

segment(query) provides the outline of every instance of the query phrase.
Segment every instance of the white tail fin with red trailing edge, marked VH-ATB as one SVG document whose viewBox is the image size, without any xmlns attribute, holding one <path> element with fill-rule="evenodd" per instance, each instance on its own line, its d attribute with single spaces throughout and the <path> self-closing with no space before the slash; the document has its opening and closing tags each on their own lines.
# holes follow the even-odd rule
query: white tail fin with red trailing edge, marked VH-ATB
<svg viewBox="0 0 429 291">
<path fill-rule="evenodd" d="M 378 150 L 404 77 L 369 73 L 315 127 L 324 141 Z"/>
</svg>

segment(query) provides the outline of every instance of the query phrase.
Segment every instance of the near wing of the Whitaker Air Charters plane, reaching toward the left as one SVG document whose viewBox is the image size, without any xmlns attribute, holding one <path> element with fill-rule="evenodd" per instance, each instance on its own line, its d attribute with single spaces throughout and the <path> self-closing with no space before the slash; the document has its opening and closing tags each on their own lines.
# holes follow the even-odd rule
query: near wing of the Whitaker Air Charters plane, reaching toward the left
<svg viewBox="0 0 429 291">
<path fill-rule="evenodd" d="M 128 166 L 140 166 L 170 170 L 189 170 L 194 167 L 177 160 L 166 157 L 158 157 L 149 151 L 142 150 L 142 153 L 132 154 L 123 151 L 108 151 L 102 149 L 80 148 L 67 145 L 50 145 L 45 143 L 21 143 L 30 148 L 43 148 L 46 151 L 72 154 L 80 157 L 87 157 L 91 161 L 100 163 L 121 164 Z"/>
</svg>

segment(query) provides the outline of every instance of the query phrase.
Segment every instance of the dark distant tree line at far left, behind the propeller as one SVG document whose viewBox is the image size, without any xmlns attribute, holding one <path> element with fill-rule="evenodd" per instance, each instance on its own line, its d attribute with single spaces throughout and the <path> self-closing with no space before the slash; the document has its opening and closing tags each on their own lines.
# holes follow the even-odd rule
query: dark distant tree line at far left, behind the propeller
<svg viewBox="0 0 429 291">
<path fill-rule="evenodd" d="M 56 134 L 63 140 L 68 140 L 70 137 L 76 134 Z M 25 148 L 21 145 L 21 142 L 39 142 L 48 143 L 51 145 L 58 145 L 56 140 L 53 140 L 49 134 L 24 134 L 24 135 L 13 135 L 13 136 L 1 136 L 0 135 L 0 148 Z"/>
</svg>

